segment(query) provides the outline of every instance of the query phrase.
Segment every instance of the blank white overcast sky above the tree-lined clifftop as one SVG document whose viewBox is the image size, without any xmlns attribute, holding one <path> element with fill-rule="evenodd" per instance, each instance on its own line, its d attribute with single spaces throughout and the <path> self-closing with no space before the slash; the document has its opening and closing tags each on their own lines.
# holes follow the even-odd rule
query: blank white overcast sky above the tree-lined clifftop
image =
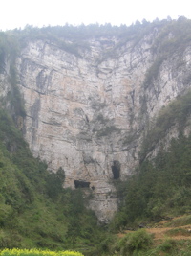
<svg viewBox="0 0 191 256">
<path fill-rule="evenodd" d="M 46 25 L 112 23 L 143 18 L 191 18 L 190 0 L 0 0 L 0 30 Z"/>
</svg>

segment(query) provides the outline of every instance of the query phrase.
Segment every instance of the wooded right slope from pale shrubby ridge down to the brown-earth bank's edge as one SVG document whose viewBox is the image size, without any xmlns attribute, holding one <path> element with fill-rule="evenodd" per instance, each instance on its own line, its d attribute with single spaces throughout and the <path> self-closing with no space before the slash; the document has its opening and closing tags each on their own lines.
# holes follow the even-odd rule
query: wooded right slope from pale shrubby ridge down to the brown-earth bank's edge
<svg viewBox="0 0 191 256">
<path fill-rule="evenodd" d="M 178 97 L 159 112 L 156 123 L 147 131 L 138 170 L 127 182 L 117 184 L 123 201 L 113 227 L 159 221 L 191 211 L 191 134 L 183 135 L 186 125 L 190 127 L 190 104 L 191 92 Z M 165 136 L 174 127 L 179 136 L 166 149 Z M 151 160 L 148 156 L 156 145 L 159 151 Z"/>
</svg>

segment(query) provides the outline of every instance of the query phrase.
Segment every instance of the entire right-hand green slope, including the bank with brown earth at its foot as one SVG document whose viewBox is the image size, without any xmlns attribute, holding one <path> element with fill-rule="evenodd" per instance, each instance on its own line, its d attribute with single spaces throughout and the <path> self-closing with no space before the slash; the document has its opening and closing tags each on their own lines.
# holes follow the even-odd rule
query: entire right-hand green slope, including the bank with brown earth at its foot
<svg viewBox="0 0 191 256">
<path fill-rule="evenodd" d="M 190 255 L 191 225 L 191 134 L 184 135 L 190 128 L 191 92 L 178 97 L 163 108 L 155 124 L 147 131 L 139 155 L 139 166 L 129 180 L 115 181 L 120 209 L 110 223 L 109 230 L 137 230 L 123 235 L 108 236 L 99 246 L 96 255 Z M 178 137 L 164 147 L 165 136 L 176 127 Z M 150 152 L 159 145 L 155 157 Z M 156 226 L 159 221 L 169 221 L 164 240 L 155 241 L 150 233 L 139 227 Z M 184 227 L 185 226 L 185 227 Z M 186 228 L 187 227 L 187 228 Z M 184 235 L 184 240 L 174 236 Z"/>
</svg>

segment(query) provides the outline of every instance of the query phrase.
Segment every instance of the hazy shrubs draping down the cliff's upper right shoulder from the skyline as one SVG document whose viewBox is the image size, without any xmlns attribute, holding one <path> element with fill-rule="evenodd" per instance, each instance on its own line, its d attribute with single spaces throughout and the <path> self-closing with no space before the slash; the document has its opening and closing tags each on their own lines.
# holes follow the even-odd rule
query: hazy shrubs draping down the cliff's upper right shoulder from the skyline
<svg viewBox="0 0 191 256">
<path fill-rule="evenodd" d="M 153 53 L 157 58 L 146 73 L 143 84 L 145 88 L 157 79 L 159 67 L 167 58 L 171 58 L 176 54 L 180 57 L 180 64 L 177 68 L 182 65 L 182 53 L 191 40 L 190 25 L 191 20 L 180 17 L 178 20 L 169 20 L 165 23 L 165 26 L 160 28 L 159 35 L 153 45 Z M 190 75 L 187 74 L 184 78 L 184 83 L 187 84 L 189 81 Z"/>
</svg>

